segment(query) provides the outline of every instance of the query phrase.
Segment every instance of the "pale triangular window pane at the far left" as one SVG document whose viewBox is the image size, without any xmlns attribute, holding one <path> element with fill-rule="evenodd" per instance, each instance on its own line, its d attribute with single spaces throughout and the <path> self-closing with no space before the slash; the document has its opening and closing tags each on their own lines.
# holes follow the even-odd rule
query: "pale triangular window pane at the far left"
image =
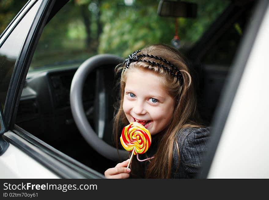
<svg viewBox="0 0 269 200">
<path fill-rule="evenodd" d="M 15 63 L 41 2 L 35 3 L 0 48 L 0 102 L 3 110 Z"/>
</svg>

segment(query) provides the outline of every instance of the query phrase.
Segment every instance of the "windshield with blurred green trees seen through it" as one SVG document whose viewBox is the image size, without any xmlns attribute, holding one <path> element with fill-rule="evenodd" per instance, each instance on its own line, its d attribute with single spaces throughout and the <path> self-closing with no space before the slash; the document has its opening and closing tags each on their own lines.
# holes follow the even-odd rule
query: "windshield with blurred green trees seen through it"
<svg viewBox="0 0 269 200">
<path fill-rule="evenodd" d="M 69 1 L 45 26 L 29 72 L 79 66 L 96 54 L 126 57 L 153 43 L 171 45 L 176 32 L 179 48 L 189 49 L 229 4 L 229 1 L 188 1 L 197 3 L 197 18 L 174 18 L 158 16 L 158 2 Z"/>
</svg>

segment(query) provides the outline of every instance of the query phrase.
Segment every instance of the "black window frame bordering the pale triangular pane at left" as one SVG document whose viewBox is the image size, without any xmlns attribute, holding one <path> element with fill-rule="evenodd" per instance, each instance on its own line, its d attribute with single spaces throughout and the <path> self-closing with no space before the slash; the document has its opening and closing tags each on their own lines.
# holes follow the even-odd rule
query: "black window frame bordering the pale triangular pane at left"
<svg viewBox="0 0 269 200">
<path fill-rule="evenodd" d="M 6 131 L 12 130 L 14 128 L 17 108 L 19 105 L 20 96 L 24 87 L 26 75 L 28 72 L 29 65 L 31 63 L 33 52 L 35 51 L 36 43 L 39 40 L 40 34 L 46 23 L 46 19 L 49 16 L 50 10 L 54 5 L 55 0 L 32 0 L 31 6 L 24 7 L 24 10 L 20 12 L 19 16 L 17 16 L 20 17 L 20 19 L 15 19 L 13 22 L 15 23 L 14 26 L 9 27 L 14 30 L 14 28 L 17 26 L 23 16 L 25 16 L 29 12 L 29 10 L 37 1 L 42 2 L 24 40 L 24 44 L 22 44 L 19 56 L 14 67 L 13 75 L 9 83 L 9 89 L 6 96 L 6 99 L 9 99 L 9 101 L 6 101 L 3 111 Z M 27 5 L 29 5 L 29 2 L 27 3 Z M 6 34 L 9 35 L 10 33 Z"/>
</svg>

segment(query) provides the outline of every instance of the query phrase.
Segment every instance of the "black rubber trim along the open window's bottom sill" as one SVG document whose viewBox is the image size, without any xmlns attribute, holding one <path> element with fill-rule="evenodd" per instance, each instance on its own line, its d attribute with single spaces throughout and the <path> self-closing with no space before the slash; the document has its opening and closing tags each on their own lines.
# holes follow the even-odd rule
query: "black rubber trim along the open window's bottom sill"
<svg viewBox="0 0 269 200">
<path fill-rule="evenodd" d="M 17 125 L 13 132 L 6 132 L 3 138 L 60 178 L 105 178 L 103 174 L 54 149 Z"/>
</svg>

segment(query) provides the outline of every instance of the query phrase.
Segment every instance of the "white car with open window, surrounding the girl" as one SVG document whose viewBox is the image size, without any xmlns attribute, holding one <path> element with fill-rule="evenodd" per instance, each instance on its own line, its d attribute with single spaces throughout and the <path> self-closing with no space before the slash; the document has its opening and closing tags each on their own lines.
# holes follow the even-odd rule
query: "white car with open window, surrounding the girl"
<svg viewBox="0 0 269 200">
<path fill-rule="evenodd" d="M 188 59 L 212 126 L 196 178 L 268 178 L 268 13 L 262 0 L 29 0 L 0 37 L 0 177 L 105 178 L 128 157 L 112 138 L 114 68 L 160 42 Z"/>
</svg>

